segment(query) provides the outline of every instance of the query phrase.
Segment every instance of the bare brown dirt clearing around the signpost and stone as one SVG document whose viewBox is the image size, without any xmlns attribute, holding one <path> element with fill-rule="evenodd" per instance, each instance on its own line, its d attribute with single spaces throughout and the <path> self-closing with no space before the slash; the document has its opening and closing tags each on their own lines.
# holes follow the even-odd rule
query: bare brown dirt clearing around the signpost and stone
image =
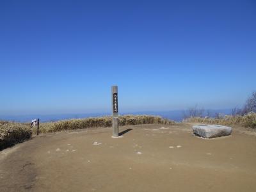
<svg viewBox="0 0 256 192">
<path fill-rule="evenodd" d="M 0 152 L 0 191 L 256 191 L 256 136 L 205 140 L 191 125 L 35 136 Z"/>
</svg>

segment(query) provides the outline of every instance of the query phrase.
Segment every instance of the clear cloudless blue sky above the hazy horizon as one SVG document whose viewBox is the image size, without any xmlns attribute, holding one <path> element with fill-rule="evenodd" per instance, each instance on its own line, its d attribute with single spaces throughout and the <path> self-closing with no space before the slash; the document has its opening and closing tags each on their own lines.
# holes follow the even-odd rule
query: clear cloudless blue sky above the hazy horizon
<svg viewBox="0 0 256 192">
<path fill-rule="evenodd" d="M 0 114 L 241 106 L 256 1 L 0 1 Z"/>
</svg>

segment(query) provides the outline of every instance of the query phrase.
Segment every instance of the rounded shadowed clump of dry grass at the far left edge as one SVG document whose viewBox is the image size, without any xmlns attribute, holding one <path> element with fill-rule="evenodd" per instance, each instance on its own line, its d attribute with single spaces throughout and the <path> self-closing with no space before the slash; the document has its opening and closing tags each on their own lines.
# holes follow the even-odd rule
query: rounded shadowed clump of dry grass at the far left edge
<svg viewBox="0 0 256 192">
<path fill-rule="evenodd" d="M 32 131 L 26 124 L 0 122 L 0 150 L 30 139 Z"/>
</svg>

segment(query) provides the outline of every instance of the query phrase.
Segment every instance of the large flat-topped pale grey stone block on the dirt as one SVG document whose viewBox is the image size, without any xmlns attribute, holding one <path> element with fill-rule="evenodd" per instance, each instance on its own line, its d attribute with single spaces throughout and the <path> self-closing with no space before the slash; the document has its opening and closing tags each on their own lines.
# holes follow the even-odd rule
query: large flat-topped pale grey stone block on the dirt
<svg viewBox="0 0 256 192">
<path fill-rule="evenodd" d="M 218 138 L 228 136 L 232 132 L 231 127 L 223 125 L 194 125 L 193 132 L 202 138 Z"/>
</svg>

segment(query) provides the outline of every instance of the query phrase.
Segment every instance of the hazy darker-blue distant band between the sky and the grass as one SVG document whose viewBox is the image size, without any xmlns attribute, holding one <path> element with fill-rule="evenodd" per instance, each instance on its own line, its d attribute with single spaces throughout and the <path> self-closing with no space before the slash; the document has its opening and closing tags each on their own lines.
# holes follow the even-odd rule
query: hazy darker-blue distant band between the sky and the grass
<svg viewBox="0 0 256 192">
<path fill-rule="evenodd" d="M 210 116 L 214 117 L 216 113 L 221 113 L 223 115 L 230 115 L 232 109 L 207 109 L 204 112 L 204 116 L 207 115 L 206 111 L 209 111 Z M 40 118 L 40 122 L 56 122 L 58 120 L 66 120 L 71 118 L 88 118 L 88 117 L 109 116 L 109 115 L 111 115 L 111 113 L 0 115 L 0 120 L 8 120 L 13 122 L 30 122 L 32 119 Z M 184 110 L 125 112 L 125 113 L 120 113 L 120 115 L 159 115 L 159 116 L 162 116 L 163 118 L 168 118 L 169 120 L 181 122 L 182 119 L 184 118 Z"/>
</svg>

